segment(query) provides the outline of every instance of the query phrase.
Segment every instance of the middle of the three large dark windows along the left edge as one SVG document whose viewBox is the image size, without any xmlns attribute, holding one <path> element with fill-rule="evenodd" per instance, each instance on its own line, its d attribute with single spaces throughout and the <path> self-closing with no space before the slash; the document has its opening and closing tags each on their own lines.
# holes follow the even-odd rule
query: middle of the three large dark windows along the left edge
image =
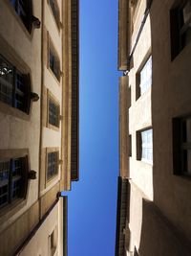
<svg viewBox="0 0 191 256">
<path fill-rule="evenodd" d="M 0 101 L 29 114 L 30 76 L 22 74 L 0 55 Z"/>
</svg>

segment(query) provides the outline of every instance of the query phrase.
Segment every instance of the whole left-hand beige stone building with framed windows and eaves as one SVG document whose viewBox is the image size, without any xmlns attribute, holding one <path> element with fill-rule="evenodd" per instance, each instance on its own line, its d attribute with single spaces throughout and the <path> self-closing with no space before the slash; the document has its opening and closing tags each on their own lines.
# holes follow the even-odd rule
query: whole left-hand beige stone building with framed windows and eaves
<svg viewBox="0 0 191 256">
<path fill-rule="evenodd" d="M 67 255 L 78 0 L 0 1 L 0 255 Z"/>
</svg>

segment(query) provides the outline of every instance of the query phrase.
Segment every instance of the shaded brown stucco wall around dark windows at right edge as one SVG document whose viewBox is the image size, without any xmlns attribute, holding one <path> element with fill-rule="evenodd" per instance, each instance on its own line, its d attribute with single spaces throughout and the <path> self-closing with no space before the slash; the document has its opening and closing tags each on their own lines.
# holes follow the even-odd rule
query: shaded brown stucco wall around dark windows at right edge
<svg viewBox="0 0 191 256">
<path fill-rule="evenodd" d="M 155 84 L 152 91 L 154 200 L 190 241 L 191 180 L 173 174 L 172 118 L 191 113 L 191 43 L 171 61 L 169 11 L 173 4 L 172 0 L 165 4 L 154 1 L 151 10 Z"/>
</svg>

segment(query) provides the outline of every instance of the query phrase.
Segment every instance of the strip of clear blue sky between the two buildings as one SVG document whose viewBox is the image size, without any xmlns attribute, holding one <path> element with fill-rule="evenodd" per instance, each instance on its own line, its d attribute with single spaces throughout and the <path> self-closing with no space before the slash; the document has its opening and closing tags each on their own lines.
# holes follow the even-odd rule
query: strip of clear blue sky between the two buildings
<svg viewBox="0 0 191 256">
<path fill-rule="evenodd" d="M 117 0 L 80 0 L 79 181 L 69 256 L 114 256 L 118 175 Z"/>
</svg>

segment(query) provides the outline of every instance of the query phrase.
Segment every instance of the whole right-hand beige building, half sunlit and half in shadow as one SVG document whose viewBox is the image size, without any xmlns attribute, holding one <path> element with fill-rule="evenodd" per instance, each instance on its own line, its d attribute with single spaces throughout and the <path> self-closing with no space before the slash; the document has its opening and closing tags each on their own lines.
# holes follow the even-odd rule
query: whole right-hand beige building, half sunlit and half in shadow
<svg viewBox="0 0 191 256">
<path fill-rule="evenodd" d="M 191 2 L 119 0 L 117 255 L 191 255 Z"/>
</svg>

